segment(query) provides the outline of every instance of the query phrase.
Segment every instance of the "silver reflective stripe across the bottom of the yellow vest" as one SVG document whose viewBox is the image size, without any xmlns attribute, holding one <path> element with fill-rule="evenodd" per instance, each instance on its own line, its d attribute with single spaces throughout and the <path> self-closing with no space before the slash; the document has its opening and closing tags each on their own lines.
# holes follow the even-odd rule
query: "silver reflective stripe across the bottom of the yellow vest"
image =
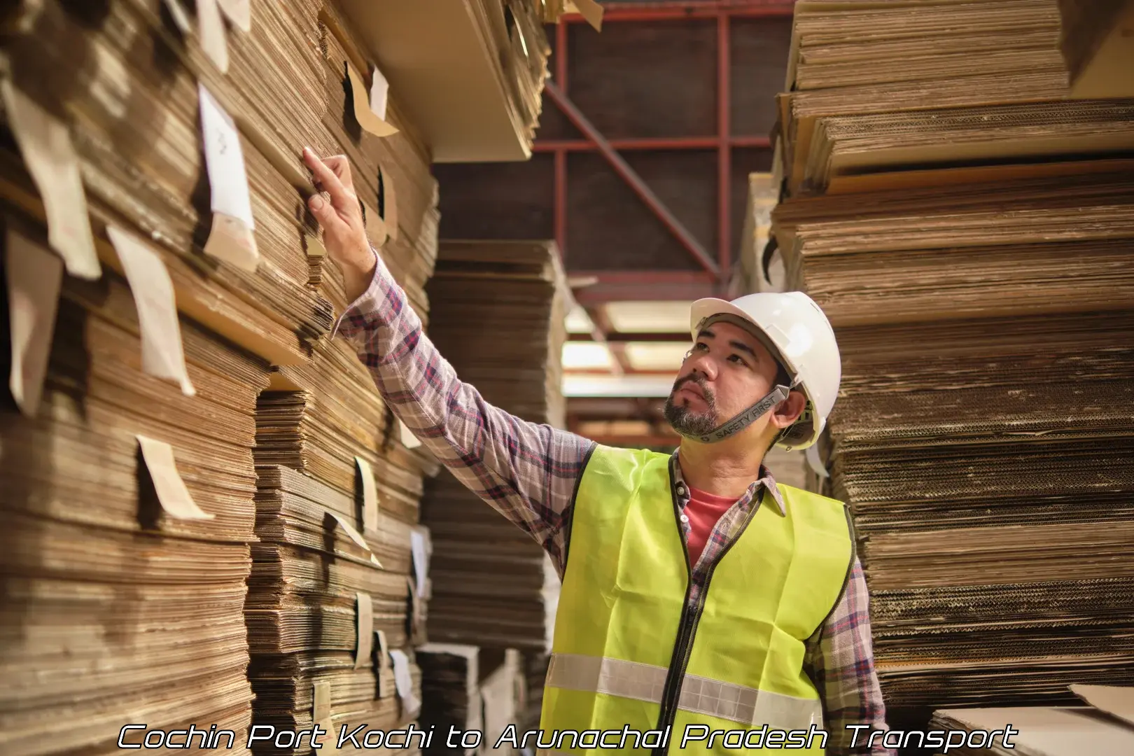
<svg viewBox="0 0 1134 756">
<path fill-rule="evenodd" d="M 552 654 L 545 685 L 660 704 L 668 672 L 665 666 L 620 659 Z M 685 676 L 677 707 L 741 724 L 775 722 L 782 730 L 806 730 L 823 721 L 822 706 L 815 698 L 785 696 L 696 674 Z"/>
</svg>

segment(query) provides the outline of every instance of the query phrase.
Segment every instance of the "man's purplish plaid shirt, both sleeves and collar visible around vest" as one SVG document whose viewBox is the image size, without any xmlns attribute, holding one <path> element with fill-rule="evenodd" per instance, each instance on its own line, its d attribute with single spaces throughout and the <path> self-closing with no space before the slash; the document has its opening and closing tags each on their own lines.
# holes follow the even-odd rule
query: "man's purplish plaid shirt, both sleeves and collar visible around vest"
<svg viewBox="0 0 1134 756">
<path fill-rule="evenodd" d="M 379 256 L 370 288 L 344 313 L 336 332 L 347 338 L 370 368 L 374 383 L 395 414 L 471 491 L 541 543 L 562 577 L 569 511 L 575 482 L 583 474 L 594 442 L 528 423 L 489 405 L 463 383 L 452 366 L 422 331 L 421 320 Z M 688 486 L 675 453 L 674 485 L 678 502 L 689 502 Z M 767 469 L 720 518 L 693 566 L 694 589 L 704 585 L 708 568 L 735 537 L 753 502 L 767 490 L 784 512 L 784 500 Z M 765 498 L 768 499 L 768 498 Z M 688 537 L 688 523 L 683 519 Z M 830 739 L 829 756 L 894 751 L 865 737 L 852 748 L 848 724 L 886 729 L 871 646 L 869 595 L 857 558 L 838 606 L 807 643 L 804 668 L 819 689 Z"/>
</svg>

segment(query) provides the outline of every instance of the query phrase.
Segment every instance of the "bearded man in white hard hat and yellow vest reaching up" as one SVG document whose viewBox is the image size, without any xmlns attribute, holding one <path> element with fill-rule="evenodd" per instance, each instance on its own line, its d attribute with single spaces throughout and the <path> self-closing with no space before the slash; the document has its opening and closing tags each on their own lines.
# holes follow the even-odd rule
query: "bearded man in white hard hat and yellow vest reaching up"
<svg viewBox="0 0 1134 756">
<path fill-rule="evenodd" d="M 601 447 L 463 383 L 371 249 L 347 161 L 304 160 L 353 303 L 338 331 L 401 421 L 562 578 L 544 733 L 626 728 L 629 740 L 602 745 L 731 753 L 744 736 L 725 733 L 764 728 L 767 744 L 743 745 L 799 746 L 772 731 L 803 731 L 807 753 L 890 753 L 848 728 L 885 729 L 885 708 L 846 508 L 778 486 L 762 464 L 773 443 L 813 443 L 835 402 L 839 356 L 819 307 L 798 292 L 695 303 L 666 405 L 678 452 Z M 661 747 L 644 736 L 667 729 Z M 574 737 L 539 745 L 594 753 Z"/>
</svg>

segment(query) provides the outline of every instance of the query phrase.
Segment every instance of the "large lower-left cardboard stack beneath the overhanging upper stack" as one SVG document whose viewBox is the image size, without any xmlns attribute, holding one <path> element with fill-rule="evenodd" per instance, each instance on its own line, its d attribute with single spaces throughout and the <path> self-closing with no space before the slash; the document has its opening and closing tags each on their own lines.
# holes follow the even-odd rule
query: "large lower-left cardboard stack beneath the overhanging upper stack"
<svg viewBox="0 0 1134 756">
<path fill-rule="evenodd" d="M 146 725 L 126 732 L 134 745 L 145 729 L 192 724 L 231 731 L 246 754 L 243 610 L 268 365 L 178 328 L 171 306 L 166 320 L 136 308 L 143 284 L 110 272 L 68 279 L 56 314 L 61 265 L 42 230 L 7 210 L 3 354 L 16 364 L 5 374 L 23 414 L 0 410 L 0 745 L 111 753 L 126 724 Z M 184 343 L 192 396 L 150 374 L 151 339 Z M 36 354 L 50 359 L 42 384 Z"/>
</svg>

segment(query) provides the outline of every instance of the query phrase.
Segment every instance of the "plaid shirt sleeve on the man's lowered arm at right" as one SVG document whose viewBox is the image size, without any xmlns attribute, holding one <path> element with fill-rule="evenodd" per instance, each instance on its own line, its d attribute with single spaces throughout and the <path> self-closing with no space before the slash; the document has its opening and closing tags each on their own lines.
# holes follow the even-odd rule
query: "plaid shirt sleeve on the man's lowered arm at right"
<svg viewBox="0 0 1134 756">
<path fill-rule="evenodd" d="M 872 730 L 887 729 L 886 704 L 874 671 L 870 594 L 857 558 L 847 589 L 811 644 L 804 664 L 823 700 L 830 733 L 827 754 L 896 756 L 897 751 L 882 745 L 881 734 L 874 737 L 873 748 L 869 746 Z"/>
</svg>

